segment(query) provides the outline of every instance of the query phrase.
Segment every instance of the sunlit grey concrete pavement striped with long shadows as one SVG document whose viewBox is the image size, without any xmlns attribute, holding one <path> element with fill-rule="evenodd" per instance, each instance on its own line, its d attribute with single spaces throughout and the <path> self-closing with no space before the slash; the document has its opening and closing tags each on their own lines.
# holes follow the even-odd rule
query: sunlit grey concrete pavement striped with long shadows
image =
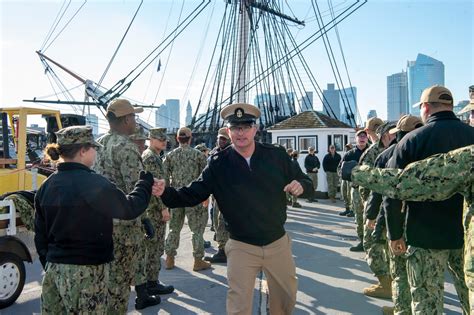
<svg viewBox="0 0 474 315">
<path fill-rule="evenodd" d="M 343 204 L 326 200 L 306 203 L 303 208 L 288 209 L 286 229 L 293 240 L 293 254 L 297 266 L 299 288 L 295 314 L 381 314 L 383 305 L 391 301 L 364 296 L 362 289 L 375 282 L 363 253 L 353 253 L 349 247 L 356 243 L 353 218 L 337 215 Z M 142 314 L 225 314 L 227 290 L 225 265 L 214 265 L 203 272 L 192 271 L 191 233 L 187 225 L 181 232 L 176 268 L 162 270 L 161 281 L 172 284 L 176 292 L 162 296 L 158 306 L 143 310 Z M 212 240 L 213 232 L 206 229 L 205 239 Z M 213 246 L 215 243 L 213 242 Z M 214 249 L 206 250 L 208 254 Z M 25 289 L 18 301 L 0 314 L 39 313 L 41 267 L 38 261 L 29 264 Z M 459 314 L 461 309 L 450 281 L 445 284 L 445 313 Z M 266 314 L 266 283 L 264 277 L 256 281 L 254 314 Z M 132 292 L 129 314 L 134 310 Z"/>
</svg>

